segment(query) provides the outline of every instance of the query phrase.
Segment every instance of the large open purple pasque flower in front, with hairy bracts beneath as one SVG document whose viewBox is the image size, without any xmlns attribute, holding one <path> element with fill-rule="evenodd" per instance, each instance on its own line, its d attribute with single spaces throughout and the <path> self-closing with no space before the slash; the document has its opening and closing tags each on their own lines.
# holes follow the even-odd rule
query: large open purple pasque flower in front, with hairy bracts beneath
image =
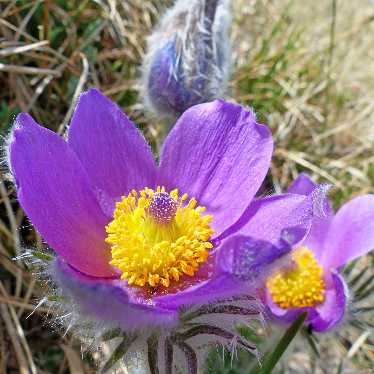
<svg viewBox="0 0 374 374">
<path fill-rule="evenodd" d="M 233 321 L 262 316 L 251 294 L 303 242 L 328 190 L 255 199 L 270 131 L 221 99 L 181 116 L 158 167 L 138 129 L 95 89 L 80 96 L 67 141 L 22 113 L 8 143 L 19 203 L 58 254 L 47 270 L 71 297 L 64 324 L 83 334 L 87 316 L 99 336 L 123 337 L 122 355 L 134 346 L 139 356 L 144 344 L 150 367 L 173 362 L 173 347 L 191 373 L 194 349 L 209 341 L 254 349 Z"/>
</svg>

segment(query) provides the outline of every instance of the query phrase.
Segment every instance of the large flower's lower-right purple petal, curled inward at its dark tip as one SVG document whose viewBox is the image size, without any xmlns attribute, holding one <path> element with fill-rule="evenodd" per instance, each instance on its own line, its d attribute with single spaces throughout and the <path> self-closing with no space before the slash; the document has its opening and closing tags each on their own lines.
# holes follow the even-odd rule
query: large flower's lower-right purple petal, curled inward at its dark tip
<svg viewBox="0 0 374 374">
<path fill-rule="evenodd" d="M 277 245 L 243 235 L 225 240 L 217 252 L 214 272 L 205 279 L 181 292 L 157 297 L 160 303 L 191 305 L 208 304 L 221 298 L 254 293 L 291 251 L 291 240 L 300 240 L 304 230 L 288 228 L 279 237 Z"/>
</svg>

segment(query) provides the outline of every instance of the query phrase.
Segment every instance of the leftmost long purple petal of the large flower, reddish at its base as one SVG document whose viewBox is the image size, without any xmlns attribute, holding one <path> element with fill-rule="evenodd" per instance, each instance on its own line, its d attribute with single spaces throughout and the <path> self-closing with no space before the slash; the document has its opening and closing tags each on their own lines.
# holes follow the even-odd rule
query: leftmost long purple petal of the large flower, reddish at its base
<svg viewBox="0 0 374 374">
<path fill-rule="evenodd" d="M 113 276 L 108 218 L 82 163 L 68 144 L 25 113 L 17 117 L 10 164 L 18 201 L 46 242 L 82 272 Z"/>
</svg>

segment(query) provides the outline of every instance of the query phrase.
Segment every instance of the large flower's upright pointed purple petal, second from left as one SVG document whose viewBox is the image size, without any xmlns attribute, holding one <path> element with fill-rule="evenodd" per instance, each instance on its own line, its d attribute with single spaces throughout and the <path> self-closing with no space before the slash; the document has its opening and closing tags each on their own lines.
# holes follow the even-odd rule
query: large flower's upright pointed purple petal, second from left
<svg viewBox="0 0 374 374">
<path fill-rule="evenodd" d="M 100 91 L 83 93 L 71 119 L 68 144 L 83 163 L 108 217 L 132 189 L 153 188 L 156 164 L 144 138 Z"/>
</svg>

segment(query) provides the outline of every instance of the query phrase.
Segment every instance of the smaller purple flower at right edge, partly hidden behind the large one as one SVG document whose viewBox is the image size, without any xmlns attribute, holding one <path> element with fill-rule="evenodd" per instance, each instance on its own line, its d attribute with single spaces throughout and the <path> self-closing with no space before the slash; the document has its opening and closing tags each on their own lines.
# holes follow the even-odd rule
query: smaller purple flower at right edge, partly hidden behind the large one
<svg viewBox="0 0 374 374">
<path fill-rule="evenodd" d="M 287 193 L 308 195 L 316 184 L 302 173 Z M 334 215 L 328 199 L 315 217 L 303 247 L 292 254 L 291 267 L 267 283 L 266 305 L 273 315 L 293 321 L 309 309 L 306 324 L 326 331 L 344 316 L 349 290 L 339 269 L 374 248 L 374 195 L 355 197 Z"/>
</svg>

